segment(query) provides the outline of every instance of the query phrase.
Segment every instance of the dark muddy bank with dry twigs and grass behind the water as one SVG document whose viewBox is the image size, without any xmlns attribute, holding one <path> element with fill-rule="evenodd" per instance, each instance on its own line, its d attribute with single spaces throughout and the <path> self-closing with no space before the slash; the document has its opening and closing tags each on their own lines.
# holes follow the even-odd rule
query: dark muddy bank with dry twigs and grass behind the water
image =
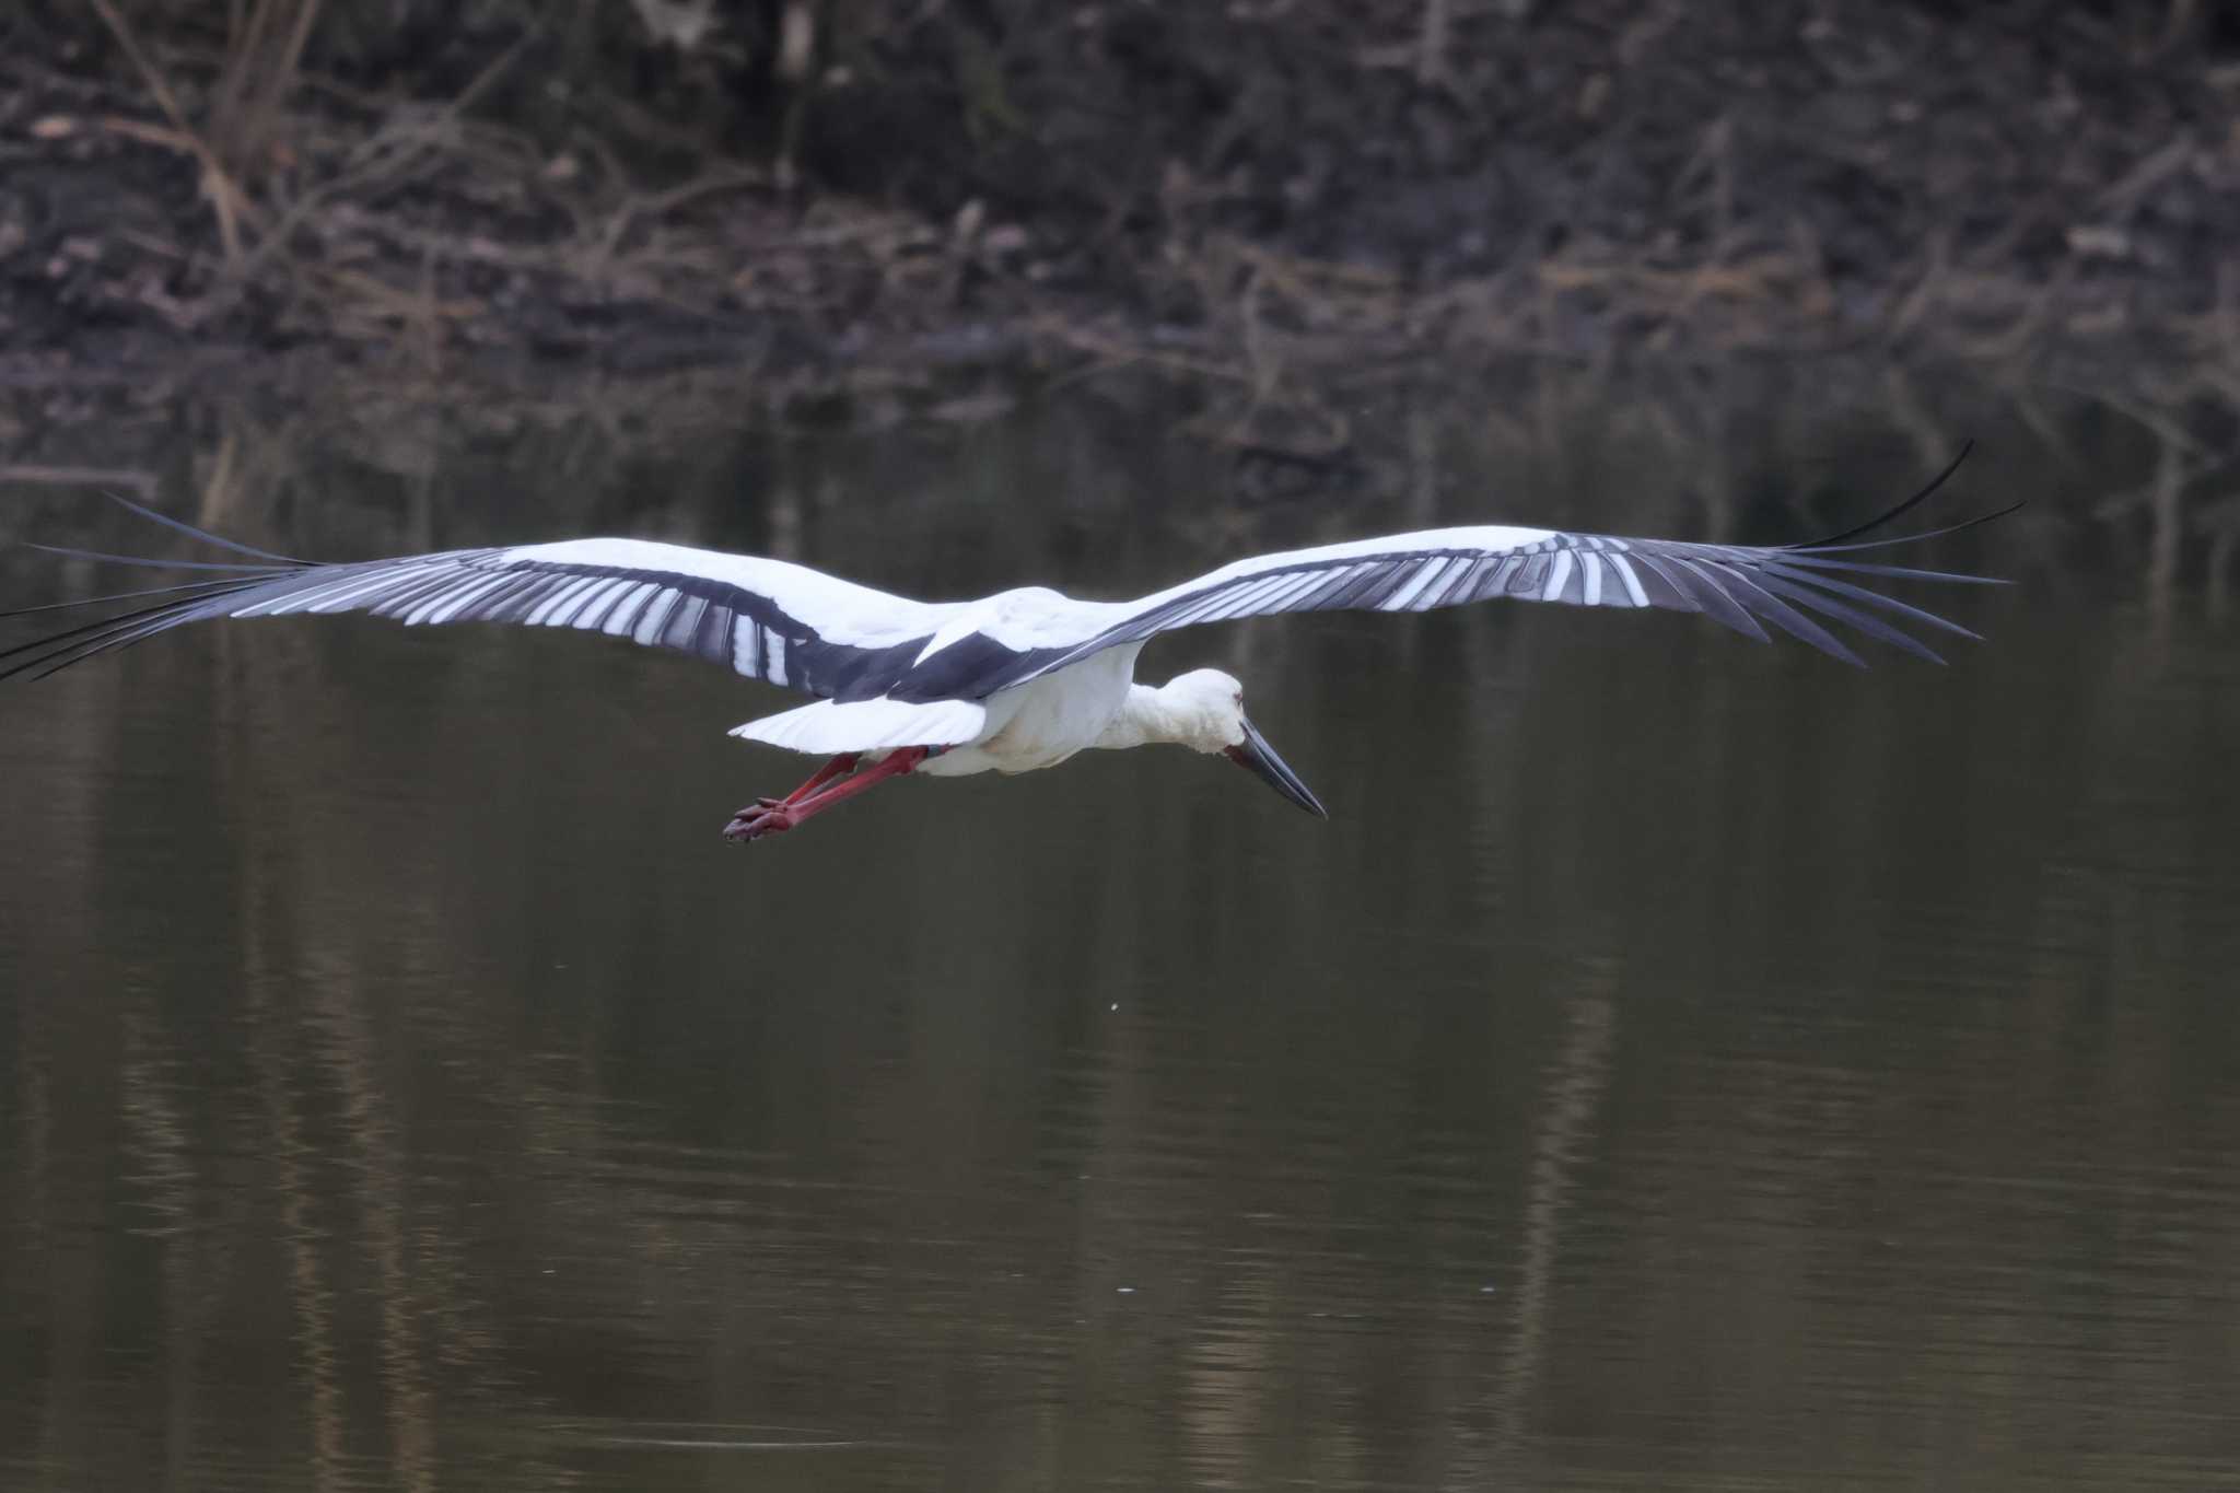
<svg viewBox="0 0 2240 1493">
<path fill-rule="evenodd" d="M 2215 7 L 867 9 L 34 2 L 0 383 L 2240 363 Z"/>
</svg>

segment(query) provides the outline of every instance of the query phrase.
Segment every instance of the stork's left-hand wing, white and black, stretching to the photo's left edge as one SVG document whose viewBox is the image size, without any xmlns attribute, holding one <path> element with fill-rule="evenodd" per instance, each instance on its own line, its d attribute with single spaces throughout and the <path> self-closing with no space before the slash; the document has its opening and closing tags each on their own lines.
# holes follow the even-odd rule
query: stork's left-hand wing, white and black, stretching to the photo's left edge
<svg viewBox="0 0 2240 1493">
<path fill-rule="evenodd" d="M 123 564 L 208 571 L 213 578 L 186 586 L 63 602 L 63 607 L 87 607 L 166 598 L 7 649 L 0 654 L 4 663 L 0 678 L 22 672 L 52 674 L 94 654 L 206 618 L 367 611 L 399 618 L 408 627 L 419 622 L 573 627 L 697 654 L 730 665 L 748 678 L 833 696 L 860 678 L 876 683 L 905 669 L 925 638 L 954 611 L 887 595 L 784 560 L 645 539 L 569 539 L 358 564 L 305 564 L 206 535 L 121 497 L 116 501 L 159 524 L 273 564 L 90 555 Z"/>
</svg>

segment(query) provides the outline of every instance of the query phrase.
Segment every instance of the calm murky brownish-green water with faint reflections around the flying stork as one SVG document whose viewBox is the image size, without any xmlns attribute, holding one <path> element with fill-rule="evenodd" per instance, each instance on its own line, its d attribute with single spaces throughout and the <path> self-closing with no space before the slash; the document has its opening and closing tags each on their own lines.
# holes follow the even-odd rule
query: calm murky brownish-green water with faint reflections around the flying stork
<svg viewBox="0 0 2240 1493">
<path fill-rule="evenodd" d="M 936 593 L 1805 524 L 1770 457 L 1597 432 L 1214 508 L 1075 410 L 264 486 L 206 434 L 199 510 L 282 548 Z M 1924 466 L 1857 450 L 1812 515 Z M 1998 452 L 1978 499 L 2126 481 Z M 1947 672 L 1525 607 L 1154 649 L 1245 676 L 1328 824 L 1147 750 L 728 848 L 797 768 L 721 727 L 780 696 L 567 636 L 237 625 L 11 689 L 0 1482 L 2227 1486 L 2240 660 L 2061 533 L 1940 551 L 2032 578 Z"/>
</svg>

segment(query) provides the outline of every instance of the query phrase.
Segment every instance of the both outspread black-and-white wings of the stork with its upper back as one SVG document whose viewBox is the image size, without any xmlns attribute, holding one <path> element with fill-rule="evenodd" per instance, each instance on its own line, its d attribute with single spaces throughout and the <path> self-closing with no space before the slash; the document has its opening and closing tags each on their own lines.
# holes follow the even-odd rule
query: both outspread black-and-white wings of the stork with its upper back
<svg viewBox="0 0 2240 1493">
<path fill-rule="evenodd" d="M 1967 457 L 1967 450 L 1960 454 Z M 1693 544 L 1505 526 L 1434 528 L 1239 560 L 1138 602 L 1080 602 L 1039 586 L 977 602 L 916 602 L 784 560 L 647 539 L 567 539 L 307 564 L 202 533 L 119 497 L 125 508 L 242 560 L 213 564 L 90 555 L 202 571 L 206 580 L 60 602 L 58 607 L 128 607 L 99 622 L 0 651 L 0 678 L 52 674 L 211 618 L 363 611 L 405 625 L 515 622 L 596 631 L 694 654 L 748 678 L 840 703 L 986 701 L 1104 649 L 1142 645 L 1201 622 L 1286 611 L 1429 611 L 1490 598 L 1700 611 L 1758 640 L 1765 640 L 1770 622 L 1846 663 L 1864 663 L 1830 631 L 1832 622 L 1942 663 L 1897 622 L 1964 638 L 1976 633 L 1859 582 L 1985 578 L 1875 564 L 1855 560 L 1852 553 L 1929 539 L 1951 528 L 1866 544 L 1852 539 L 1924 501 L 1958 466 L 1953 461 L 1873 524 L 1812 544 Z M 1991 517 L 1998 515 L 1969 524 Z"/>
</svg>

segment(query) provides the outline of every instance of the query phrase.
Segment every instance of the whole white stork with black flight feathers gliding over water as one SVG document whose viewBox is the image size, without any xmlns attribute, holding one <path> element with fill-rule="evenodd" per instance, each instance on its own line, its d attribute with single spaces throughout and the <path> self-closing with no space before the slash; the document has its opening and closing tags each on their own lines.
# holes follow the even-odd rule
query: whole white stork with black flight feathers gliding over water
<svg viewBox="0 0 2240 1493">
<path fill-rule="evenodd" d="M 1145 642 L 1236 618 L 1429 611 L 1510 598 L 1696 611 L 1761 642 L 1770 622 L 1864 667 L 1859 654 L 1817 620 L 1826 618 L 1944 663 L 1895 620 L 1962 638 L 1976 633 L 1859 582 L 1996 582 L 1857 560 L 1855 553 L 2012 513 L 2003 508 L 1895 539 L 1859 539 L 1929 499 L 1962 459 L 1967 448 L 1882 517 L 1808 544 L 1624 539 L 1521 526 L 1431 528 L 1252 555 L 1133 602 L 1086 602 L 1044 586 L 999 591 L 977 602 L 918 602 L 784 560 L 650 539 L 560 539 L 314 564 L 222 539 L 112 492 L 141 517 L 215 544 L 235 560 L 150 560 L 34 544 L 87 560 L 190 569 L 202 578 L 0 613 L 128 604 L 96 622 L 0 651 L 0 678 L 43 678 L 208 618 L 365 611 L 405 627 L 567 627 L 697 654 L 748 678 L 815 696 L 811 705 L 730 732 L 827 761 L 793 792 L 755 799 L 732 815 L 724 826 L 726 839 L 791 830 L 894 777 L 1033 772 L 1086 748 L 1149 743 L 1228 757 L 1290 804 L 1328 817 L 1322 799 L 1245 716 L 1236 678 L 1192 669 L 1158 687 L 1140 685 L 1136 656 Z"/>
</svg>

